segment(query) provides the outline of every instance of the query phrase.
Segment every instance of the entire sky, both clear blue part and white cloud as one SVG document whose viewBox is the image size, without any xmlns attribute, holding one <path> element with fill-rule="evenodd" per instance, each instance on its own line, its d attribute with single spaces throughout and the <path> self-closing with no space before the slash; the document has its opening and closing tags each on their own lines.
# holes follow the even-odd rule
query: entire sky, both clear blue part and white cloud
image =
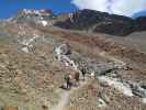
<svg viewBox="0 0 146 110">
<path fill-rule="evenodd" d="M 52 9 L 54 13 L 92 9 L 132 16 L 146 13 L 146 0 L 0 0 L 0 18 L 10 18 L 19 9 Z"/>
</svg>

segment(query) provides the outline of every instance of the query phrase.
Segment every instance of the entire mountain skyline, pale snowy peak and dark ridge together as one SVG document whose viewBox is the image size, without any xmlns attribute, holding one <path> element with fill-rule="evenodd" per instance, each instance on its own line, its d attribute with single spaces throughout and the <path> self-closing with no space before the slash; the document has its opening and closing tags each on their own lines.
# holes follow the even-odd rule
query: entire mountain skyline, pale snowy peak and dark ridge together
<svg viewBox="0 0 146 110">
<path fill-rule="evenodd" d="M 138 14 L 135 14 L 135 18 Z M 133 32 L 146 31 L 146 16 L 136 19 L 109 14 L 94 10 L 79 10 L 55 15 L 52 10 L 20 10 L 9 22 L 27 23 L 35 26 L 59 26 L 61 29 L 105 33 L 125 36 Z"/>
</svg>

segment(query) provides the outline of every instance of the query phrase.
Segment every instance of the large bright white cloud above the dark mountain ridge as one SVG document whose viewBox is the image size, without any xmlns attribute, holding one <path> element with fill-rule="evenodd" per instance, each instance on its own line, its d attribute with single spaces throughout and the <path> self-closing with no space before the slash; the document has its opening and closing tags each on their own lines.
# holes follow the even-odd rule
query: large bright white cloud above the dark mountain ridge
<svg viewBox="0 0 146 110">
<path fill-rule="evenodd" d="M 79 9 L 92 9 L 122 15 L 132 15 L 146 9 L 146 0 L 72 0 L 71 3 Z"/>
</svg>

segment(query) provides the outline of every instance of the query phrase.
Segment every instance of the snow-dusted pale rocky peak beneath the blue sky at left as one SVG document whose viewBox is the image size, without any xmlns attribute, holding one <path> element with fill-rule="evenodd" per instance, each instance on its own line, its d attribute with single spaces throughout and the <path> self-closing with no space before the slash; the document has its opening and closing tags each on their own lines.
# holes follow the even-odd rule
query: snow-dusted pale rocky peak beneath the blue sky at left
<svg viewBox="0 0 146 110">
<path fill-rule="evenodd" d="M 52 10 L 27 10 L 23 9 L 14 15 L 10 22 L 14 23 L 27 23 L 31 25 L 38 26 L 50 26 L 53 25 L 55 15 Z"/>
</svg>

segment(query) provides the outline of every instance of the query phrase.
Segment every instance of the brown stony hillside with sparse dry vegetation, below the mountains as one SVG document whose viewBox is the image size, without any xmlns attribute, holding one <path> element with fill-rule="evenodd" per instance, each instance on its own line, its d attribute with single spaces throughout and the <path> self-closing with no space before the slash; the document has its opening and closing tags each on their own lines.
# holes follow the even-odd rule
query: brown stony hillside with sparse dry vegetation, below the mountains
<svg viewBox="0 0 146 110">
<path fill-rule="evenodd" d="M 145 110 L 146 54 L 127 37 L 32 25 L 25 20 L 0 24 L 0 109 Z M 87 70 L 86 80 L 80 77 L 79 87 L 70 91 L 59 87 L 75 68 L 63 57 L 57 61 L 54 53 L 64 43 L 71 50 L 67 61 Z M 25 53 L 22 47 L 31 50 Z M 100 81 L 100 75 L 114 81 Z M 132 91 L 131 97 L 123 88 Z"/>
</svg>

